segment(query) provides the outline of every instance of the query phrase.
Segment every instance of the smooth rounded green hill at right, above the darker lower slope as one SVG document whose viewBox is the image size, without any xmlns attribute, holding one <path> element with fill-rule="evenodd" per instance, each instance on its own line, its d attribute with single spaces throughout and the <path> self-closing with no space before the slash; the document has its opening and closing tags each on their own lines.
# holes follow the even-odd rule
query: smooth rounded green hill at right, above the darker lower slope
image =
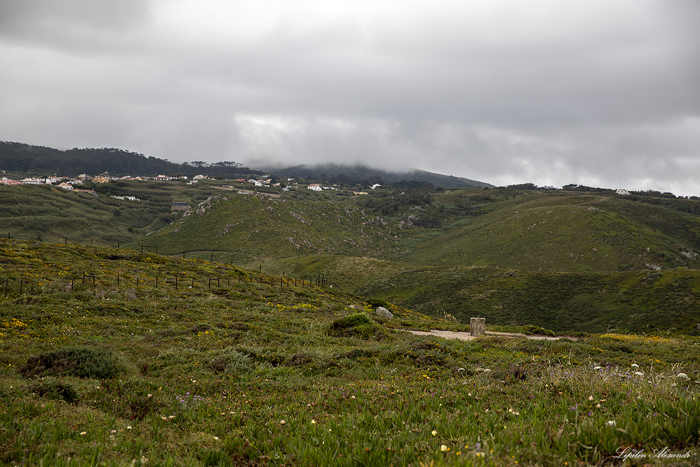
<svg viewBox="0 0 700 467">
<path fill-rule="evenodd" d="M 698 267 L 700 218 L 621 197 L 543 193 L 489 212 L 408 251 L 415 265 L 492 265 L 517 270 L 608 272 Z"/>
</svg>

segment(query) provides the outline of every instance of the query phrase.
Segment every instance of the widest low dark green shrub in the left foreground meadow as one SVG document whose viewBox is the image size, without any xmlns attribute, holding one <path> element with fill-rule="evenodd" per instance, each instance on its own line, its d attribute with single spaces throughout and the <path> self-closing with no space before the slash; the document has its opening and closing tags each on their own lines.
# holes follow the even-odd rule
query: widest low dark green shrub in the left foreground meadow
<svg viewBox="0 0 700 467">
<path fill-rule="evenodd" d="M 66 375 L 107 379 L 118 371 L 116 358 L 111 351 L 86 346 L 66 347 L 32 355 L 19 368 L 25 377 Z"/>
</svg>

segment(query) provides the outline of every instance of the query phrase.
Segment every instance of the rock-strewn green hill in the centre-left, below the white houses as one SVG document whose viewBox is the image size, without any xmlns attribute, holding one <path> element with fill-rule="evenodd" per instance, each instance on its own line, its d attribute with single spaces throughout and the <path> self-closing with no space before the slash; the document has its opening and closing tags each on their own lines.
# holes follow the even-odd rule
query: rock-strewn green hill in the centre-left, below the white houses
<svg viewBox="0 0 700 467">
<path fill-rule="evenodd" d="M 300 254 L 398 252 L 398 237 L 393 238 L 400 235 L 397 228 L 374 221 L 348 197 L 336 199 L 330 202 L 311 193 L 299 200 L 224 193 L 143 242 L 158 245 L 167 254 L 214 252 L 215 259 L 235 263 Z"/>
</svg>

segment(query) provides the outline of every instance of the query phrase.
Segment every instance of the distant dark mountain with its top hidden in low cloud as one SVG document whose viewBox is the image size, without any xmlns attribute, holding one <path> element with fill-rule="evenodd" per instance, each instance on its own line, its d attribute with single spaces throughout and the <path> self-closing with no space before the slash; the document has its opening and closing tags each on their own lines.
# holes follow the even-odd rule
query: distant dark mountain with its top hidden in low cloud
<svg viewBox="0 0 700 467">
<path fill-rule="evenodd" d="M 491 183 L 463 179 L 458 176 L 433 174 L 425 170 L 410 169 L 406 172 L 389 172 L 388 170 L 375 169 L 367 165 L 295 165 L 294 167 L 265 167 L 265 170 L 277 176 L 299 177 L 327 182 L 356 183 L 358 185 L 371 186 L 379 183 L 382 186 L 390 186 L 393 183 L 405 181 L 423 181 L 433 183 L 434 186 L 443 188 L 494 188 Z"/>
</svg>

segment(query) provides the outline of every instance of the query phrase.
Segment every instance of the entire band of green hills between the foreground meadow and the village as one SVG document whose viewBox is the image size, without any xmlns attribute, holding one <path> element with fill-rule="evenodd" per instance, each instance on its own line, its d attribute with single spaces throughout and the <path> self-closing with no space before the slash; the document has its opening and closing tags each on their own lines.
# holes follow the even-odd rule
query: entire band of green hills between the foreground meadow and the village
<svg viewBox="0 0 700 467">
<path fill-rule="evenodd" d="M 132 241 L 139 251 L 321 274 L 344 291 L 464 323 L 484 316 L 557 332 L 697 332 L 700 200 L 420 184 L 365 196 L 239 193 L 242 185 L 225 183 L 105 183 L 98 198 L 2 188 L 0 223 L 15 238 Z M 193 209 L 169 214 L 175 200 Z"/>
</svg>

